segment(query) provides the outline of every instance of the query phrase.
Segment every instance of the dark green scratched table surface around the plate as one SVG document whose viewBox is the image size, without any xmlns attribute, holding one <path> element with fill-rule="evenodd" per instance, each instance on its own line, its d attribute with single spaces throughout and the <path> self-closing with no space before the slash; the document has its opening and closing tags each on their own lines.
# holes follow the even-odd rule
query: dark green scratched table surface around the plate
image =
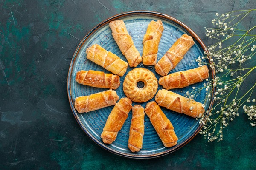
<svg viewBox="0 0 256 170">
<path fill-rule="evenodd" d="M 0 169 L 256 169 L 256 129 L 244 113 L 222 142 L 197 135 L 174 153 L 138 160 L 94 143 L 67 98 L 76 47 L 108 17 L 134 10 L 168 14 L 210 45 L 204 27 L 216 12 L 252 8 L 255 0 L 1 0 Z"/>
</svg>

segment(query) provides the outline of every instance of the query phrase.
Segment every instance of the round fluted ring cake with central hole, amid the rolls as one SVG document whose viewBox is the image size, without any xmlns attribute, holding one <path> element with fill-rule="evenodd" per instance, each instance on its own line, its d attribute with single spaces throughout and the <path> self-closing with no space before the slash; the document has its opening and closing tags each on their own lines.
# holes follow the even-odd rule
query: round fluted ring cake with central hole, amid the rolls
<svg viewBox="0 0 256 170">
<path fill-rule="evenodd" d="M 144 82 L 143 88 L 137 87 L 137 82 Z M 154 73 L 145 68 L 134 68 L 125 77 L 123 91 L 134 102 L 146 102 L 157 92 L 157 78 Z"/>
</svg>

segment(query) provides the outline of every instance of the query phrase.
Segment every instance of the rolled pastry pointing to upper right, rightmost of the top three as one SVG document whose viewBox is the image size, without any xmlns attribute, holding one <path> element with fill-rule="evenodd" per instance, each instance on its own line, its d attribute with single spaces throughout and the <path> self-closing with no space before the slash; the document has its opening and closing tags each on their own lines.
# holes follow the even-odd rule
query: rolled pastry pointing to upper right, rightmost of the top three
<svg viewBox="0 0 256 170">
<path fill-rule="evenodd" d="M 183 59 L 187 51 L 195 44 L 193 38 L 183 34 L 155 65 L 156 72 L 165 76 Z"/>
</svg>

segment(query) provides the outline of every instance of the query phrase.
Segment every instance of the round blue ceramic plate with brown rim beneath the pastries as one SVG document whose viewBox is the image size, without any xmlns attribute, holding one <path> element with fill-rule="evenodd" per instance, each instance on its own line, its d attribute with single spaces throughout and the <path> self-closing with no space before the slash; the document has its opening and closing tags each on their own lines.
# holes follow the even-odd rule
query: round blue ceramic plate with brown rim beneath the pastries
<svg viewBox="0 0 256 170">
<path fill-rule="evenodd" d="M 184 114 L 175 113 L 174 111 L 162 108 L 163 112 L 172 122 L 172 125 L 175 128 L 175 133 L 179 139 L 176 146 L 167 148 L 163 146 L 163 143 L 158 137 L 156 131 L 154 130 L 154 127 L 151 125 L 148 116 L 145 115 L 145 135 L 143 136 L 143 148 L 140 150 L 140 152 L 132 153 L 127 146 L 132 117 L 131 111 L 129 113 L 128 119 L 126 119 L 122 129 L 119 131 L 116 141 L 114 141 L 112 144 L 104 144 L 102 142 L 102 139 L 100 138 L 100 135 L 113 106 L 102 108 L 97 111 L 91 111 L 89 113 L 78 113 L 74 108 L 74 101 L 76 97 L 87 96 L 93 93 L 108 90 L 105 88 L 93 88 L 90 86 L 81 85 L 75 81 L 76 72 L 80 70 L 97 70 L 104 71 L 105 73 L 110 73 L 101 66 L 96 65 L 95 63 L 86 59 L 85 51 L 88 47 L 93 44 L 99 44 L 106 50 L 111 51 L 112 53 L 119 56 L 124 61 L 127 61 L 112 37 L 111 29 L 108 25 L 109 22 L 112 20 L 123 20 L 125 22 L 126 28 L 132 39 L 134 40 L 134 45 L 136 46 L 140 54 L 142 54 L 143 51 L 142 40 L 148 27 L 148 23 L 151 20 L 161 20 L 163 22 L 164 31 L 159 44 L 157 60 L 159 60 L 166 53 L 166 51 L 179 37 L 181 37 L 182 34 L 191 35 L 195 41 L 195 45 L 192 46 L 192 48 L 187 52 L 187 54 L 177 65 L 177 67 L 173 69 L 170 73 L 185 71 L 191 68 L 198 67 L 198 63 L 195 62 L 195 58 L 197 58 L 198 56 L 203 56 L 206 48 L 202 41 L 199 39 L 199 37 L 190 28 L 185 26 L 180 21 L 165 14 L 160 14 L 156 12 L 132 11 L 111 17 L 93 28 L 93 30 L 90 31 L 81 41 L 71 61 L 67 84 L 70 106 L 79 125 L 94 142 L 96 142 L 106 150 L 109 150 L 121 156 L 131 158 L 153 158 L 166 155 L 167 153 L 171 153 L 184 146 L 198 133 L 198 131 L 201 129 L 201 125 L 199 125 L 198 120 Z M 156 75 L 157 79 L 159 79 L 160 75 L 155 72 L 153 66 L 145 66 L 141 63 L 137 66 L 137 68 L 140 67 L 149 69 Z M 126 74 L 132 69 L 133 68 L 128 66 L 125 75 L 120 77 L 121 85 L 118 89 L 116 89 L 116 93 L 120 98 L 125 97 L 125 94 L 122 90 L 122 82 Z M 212 77 L 213 72 L 210 68 L 209 70 L 210 77 Z M 200 82 L 193 86 L 202 87 L 204 83 L 205 82 Z M 162 86 L 159 85 L 158 90 L 161 88 Z M 192 86 L 189 86 L 181 89 L 173 89 L 172 91 L 184 96 L 186 91 L 189 91 L 191 89 Z M 198 102 L 202 102 L 205 98 L 205 95 L 205 93 L 199 94 L 195 100 Z M 212 106 L 212 98 L 209 99 L 207 100 L 208 102 L 205 105 L 205 110 L 209 109 L 209 107 Z M 154 98 L 150 101 L 153 100 Z M 133 102 L 132 105 L 136 104 L 138 103 Z M 141 103 L 144 108 L 146 104 L 147 102 Z"/>
</svg>

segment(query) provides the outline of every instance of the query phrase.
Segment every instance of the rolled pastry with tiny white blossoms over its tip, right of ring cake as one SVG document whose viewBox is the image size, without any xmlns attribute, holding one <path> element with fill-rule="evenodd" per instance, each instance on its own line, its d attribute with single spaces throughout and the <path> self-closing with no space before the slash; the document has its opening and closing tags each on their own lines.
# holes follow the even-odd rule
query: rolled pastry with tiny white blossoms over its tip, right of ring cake
<svg viewBox="0 0 256 170">
<path fill-rule="evenodd" d="M 202 103 L 188 99 L 165 89 L 159 90 L 157 92 L 155 101 L 160 106 L 178 113 L 184 113 L 194 118 L 204 113 L 204 107 Z"/>
</svg>

